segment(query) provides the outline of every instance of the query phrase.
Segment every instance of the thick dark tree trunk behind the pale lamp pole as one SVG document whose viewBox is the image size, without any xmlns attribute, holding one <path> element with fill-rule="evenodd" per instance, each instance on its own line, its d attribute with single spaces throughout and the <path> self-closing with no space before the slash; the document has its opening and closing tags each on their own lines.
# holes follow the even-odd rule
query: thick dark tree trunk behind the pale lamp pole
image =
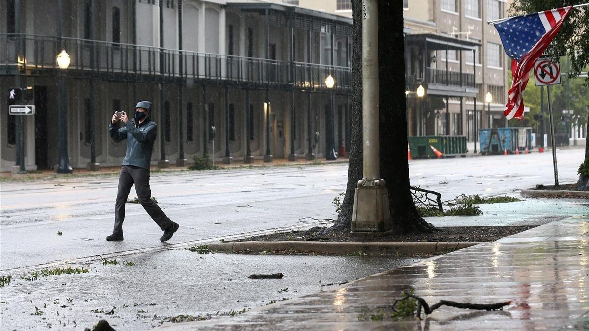
<svg viewBox="0 0 589 331">
<path fill-rule="evenodd" d="M 362 178 L 362 1 L 352 1 L 352 9 L 352 141 L 348 186 L 334 230 L 350 229 L 354 193 L 358 180 Z M 379 1 L 378 16 L 380 177 L 385 180 L 389 191 L 393 231 L 398 234 L 431 232 L 435 227 L 419 216 L 409 190 L 402 2 Z"/>
</svg>

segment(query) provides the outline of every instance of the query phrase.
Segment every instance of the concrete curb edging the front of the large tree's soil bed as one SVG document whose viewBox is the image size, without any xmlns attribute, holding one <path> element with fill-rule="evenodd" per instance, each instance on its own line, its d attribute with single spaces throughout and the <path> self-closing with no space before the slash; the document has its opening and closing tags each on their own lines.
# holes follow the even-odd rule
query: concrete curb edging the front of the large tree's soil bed
<svg viewBox="0 0 589 331">
<path fill-rule="evenodd" d="M 320 254 L 360 254 L 360 255 L 412 255 L 448 253 L 465 247 L 474 246 L 478 242 L 450 243 L 446 241 L 417 242 L 362 242 L 362 241 L 235 241 L 210 243 L 209 249 L 228 253 L 249 251 L 312 251 Z"/>
</svg>

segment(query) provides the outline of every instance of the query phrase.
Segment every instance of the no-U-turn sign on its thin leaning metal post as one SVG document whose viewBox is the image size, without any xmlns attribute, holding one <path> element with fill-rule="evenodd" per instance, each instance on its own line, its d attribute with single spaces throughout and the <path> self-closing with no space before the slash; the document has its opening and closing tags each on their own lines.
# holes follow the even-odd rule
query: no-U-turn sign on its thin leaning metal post
<svg viewBox="0 0 589 331">
<path fill-rule="evenodd" d="M 554 185 L 558 186 L 558 167 L 556 163 L 556 146 L 554 145 L 554 119 L 552 118 L 552 104 L 550 102 L 550 85 L 560 84 L 560 67 L 558 62 L 540 58 L 534 64 L 536 86 L 545 86 L 548 90 L 548 117 L 550 120 L 550 143 L 552 145 L 552 166 L 554 166 Z"/>
</svg>

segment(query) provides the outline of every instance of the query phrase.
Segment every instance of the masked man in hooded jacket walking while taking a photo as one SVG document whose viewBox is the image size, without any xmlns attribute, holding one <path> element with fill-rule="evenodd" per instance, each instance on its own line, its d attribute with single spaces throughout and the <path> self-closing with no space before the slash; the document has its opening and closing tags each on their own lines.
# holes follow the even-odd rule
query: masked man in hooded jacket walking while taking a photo
<svg viewBox="0 0 589 331">
<path fill-rule="evenodd" d="M 135 190 L 141 206 L 164 231 L 160 241 L 167 241 L 178 230 L 178 224 L 170 220 L 164 211 L 151 200 L 149 187 L 149 167 L 151 151 L 157 135 L 157 125 L 149 118 L 151 102 L 140 101 L 135 106 L 135 118 L 129 120 L 125 112 L 115 112 L 108 128 L 114 141 L 127 140 L 127 154 L 123 159 L 123 167 L 118 177 L 117 202 L 115 203 L 115 221 L 112 234 L 107 236 L 109 241 L 123 240 L 123 221 L 125 220 L 125 203 L 131 186 L 135 183 Z M 119 127 L 118 123 L 123 122 Z"/>
</svg>

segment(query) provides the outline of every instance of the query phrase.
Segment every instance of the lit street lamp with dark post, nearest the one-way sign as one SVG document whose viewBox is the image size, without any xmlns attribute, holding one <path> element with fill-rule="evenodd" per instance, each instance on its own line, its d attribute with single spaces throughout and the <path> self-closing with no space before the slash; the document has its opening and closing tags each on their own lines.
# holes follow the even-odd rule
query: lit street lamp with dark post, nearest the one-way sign
<svg viewBox="0 0 589 331">
<path fill-rule="evenodd" d="M 68 119 L 65 99 L 65 69 L 70 67 L 70 55 L 64 50 L 57 56 L 57 65 L 62 69 L 59 74 L 59 114 L 57 117 L 59 130 L 59 166 L 58 174 L 71 174 L 70 157 L 68 157 Z"/>
</svg>

